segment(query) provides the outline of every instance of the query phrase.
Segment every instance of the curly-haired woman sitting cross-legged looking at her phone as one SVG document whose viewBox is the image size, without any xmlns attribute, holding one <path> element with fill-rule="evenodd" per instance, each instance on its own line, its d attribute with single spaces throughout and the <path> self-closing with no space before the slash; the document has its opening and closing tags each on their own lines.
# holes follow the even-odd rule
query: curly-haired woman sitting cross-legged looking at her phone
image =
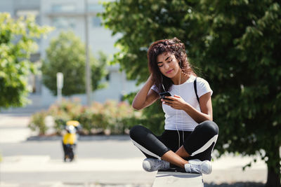
<svg viewBox="0 0 281 187">
<path fill-rule="evenodd" d="M 197 78 L 184 44 L 176 38 L 152 43 L 148 49 L 148 67 L 150 77 L 133 99 L 133 108 L 150 106 L 161 92 L 169 91 L 171 96 L 161 99 L 165 113 L 161 136 L 141 125 L 131 128 L 133 144 L 147 157 L 143 169 L 153 172 L 176 165 L 185 172 L 210 174 L 218 126 L 212 121 L 213 91 L 209 83 Z"/>
</svg>

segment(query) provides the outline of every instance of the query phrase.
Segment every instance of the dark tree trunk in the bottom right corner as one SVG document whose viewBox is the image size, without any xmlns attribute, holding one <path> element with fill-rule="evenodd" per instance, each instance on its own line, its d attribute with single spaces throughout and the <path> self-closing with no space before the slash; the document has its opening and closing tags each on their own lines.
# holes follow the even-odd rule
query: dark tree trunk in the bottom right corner
<svg viewBox="0 0 281 187">
<path fill-rule="evenodd" d="M 281 187 L 279 146 L 277 147 L 276 153 L 271 154 L 272 157 L 268 157 L 268 179 L 266 181 L 266 187 Z"/>
</svg>

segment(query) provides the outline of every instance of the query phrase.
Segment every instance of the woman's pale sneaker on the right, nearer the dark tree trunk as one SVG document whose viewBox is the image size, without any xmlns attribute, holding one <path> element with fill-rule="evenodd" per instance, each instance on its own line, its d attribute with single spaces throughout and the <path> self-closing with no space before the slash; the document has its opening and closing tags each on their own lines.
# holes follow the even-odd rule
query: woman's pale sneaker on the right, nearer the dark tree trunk
<svg viewBox="0 0 281 187">
<path fill-rule="evenodd" d="M 188 160 L 188 164 L 185 164 L 185 171 L 188 173 L 210 174 L 211 162 L 209 160 L 200 161 L 198 159 Z"/>
</svg>

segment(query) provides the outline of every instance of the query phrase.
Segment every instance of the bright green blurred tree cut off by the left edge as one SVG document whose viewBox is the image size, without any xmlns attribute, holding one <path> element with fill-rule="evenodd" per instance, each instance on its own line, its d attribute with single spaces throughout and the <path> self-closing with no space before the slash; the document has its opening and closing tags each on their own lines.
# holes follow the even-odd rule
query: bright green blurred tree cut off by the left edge
<svg viewBox="0 0 281 187">
<path fill-rule="evenodd" d="M 11 18 L 0 13 L 0 108 L 27 104 L 27 78 L 34 73 L 30 55 L 37 52 L 35 39 L 51 31 L 39 26 L 34 16 Z"/>
</svg>

